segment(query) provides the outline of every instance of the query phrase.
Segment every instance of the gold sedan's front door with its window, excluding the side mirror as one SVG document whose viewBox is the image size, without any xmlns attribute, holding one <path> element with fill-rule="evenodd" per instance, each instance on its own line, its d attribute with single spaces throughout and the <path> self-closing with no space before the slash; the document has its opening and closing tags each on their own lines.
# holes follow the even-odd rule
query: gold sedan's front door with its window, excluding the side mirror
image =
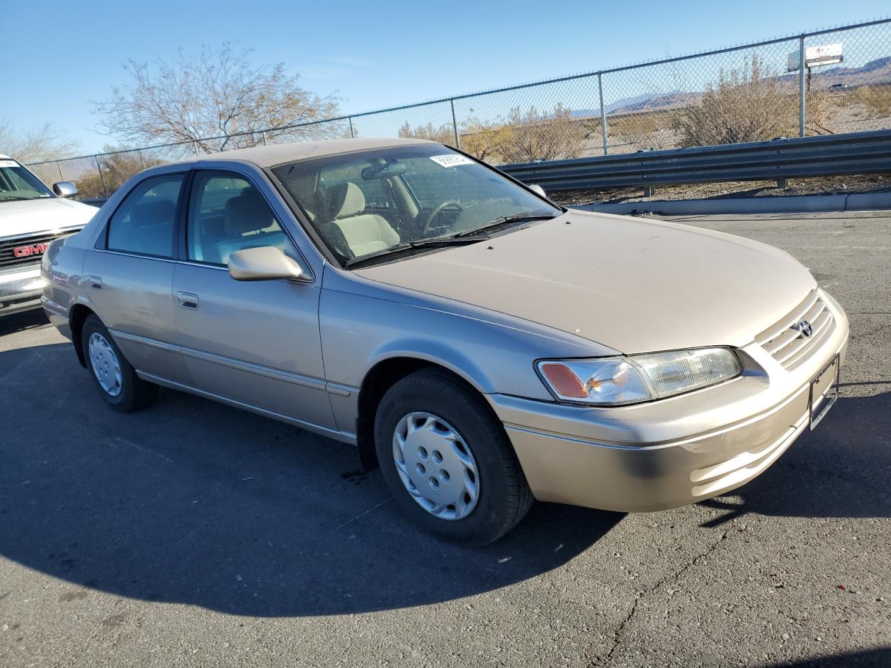
<svg viewBox="0 0 891 668">
<path fill-rule="evenodd" d="M 177 345 L 193 386 L 335 428 L 324 383 L 319 281 L 235 281 L 229 256 L 260 246 L 275 246 L 306 266 L 259 188 L 234 172 L 197 171 L 186 262 L 173 278 Z"/>
</svg>

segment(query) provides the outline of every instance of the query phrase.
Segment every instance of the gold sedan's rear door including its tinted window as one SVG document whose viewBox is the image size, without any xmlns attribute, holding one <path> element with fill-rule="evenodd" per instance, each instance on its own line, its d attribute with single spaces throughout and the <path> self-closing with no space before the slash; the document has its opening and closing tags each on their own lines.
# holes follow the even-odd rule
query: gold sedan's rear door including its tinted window
<svg viewBox="0 0 891 668">
<path fill-rule="evenodd" d="M 176 255 L 176 216 L 186 173 L 137 183 L 110 216 L 86 254 L 86 293 L 138 371 L 187 380 L 175 338 L 171 296 Z"/>
</svg>

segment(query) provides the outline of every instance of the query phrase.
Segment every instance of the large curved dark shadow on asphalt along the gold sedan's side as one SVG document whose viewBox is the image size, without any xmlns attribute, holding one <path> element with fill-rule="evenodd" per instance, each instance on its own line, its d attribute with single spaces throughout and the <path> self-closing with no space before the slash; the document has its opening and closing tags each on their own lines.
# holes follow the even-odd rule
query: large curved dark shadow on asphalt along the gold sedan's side
<svg viewBox="0 0 891 668">
<path fill-rule="evenodd" d="M 176 392 L 122 415 L 69 345 L 29 351 L 0 377 L 0 554 L 86 588 L 68 595 L 261 616 L 421 606 L 558 568 L 624 517 L 536 504 L 462 547 L 419 533 L 351 446 Z"/>
</svg>

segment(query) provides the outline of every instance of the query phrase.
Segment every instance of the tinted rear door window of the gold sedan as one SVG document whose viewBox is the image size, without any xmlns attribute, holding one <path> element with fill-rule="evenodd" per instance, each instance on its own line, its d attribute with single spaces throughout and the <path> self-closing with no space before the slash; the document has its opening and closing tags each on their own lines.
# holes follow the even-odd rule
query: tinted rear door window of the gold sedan
<svg viewBox="0 0 891 668">
<path fill-rule="evenodd" d="M 139 183 L 111 216 L 109 250 L 152 257 L 174 256 L 174 220 L 183 174 L 155 176 Z"/>
</svg>

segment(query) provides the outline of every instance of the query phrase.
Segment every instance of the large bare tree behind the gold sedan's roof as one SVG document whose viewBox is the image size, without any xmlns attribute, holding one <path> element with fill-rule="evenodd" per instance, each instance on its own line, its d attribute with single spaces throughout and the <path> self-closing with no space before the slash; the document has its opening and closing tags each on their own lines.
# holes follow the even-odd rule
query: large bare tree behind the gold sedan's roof
<svg viewBox="0 0 891 668">
<path fill-rule="evenodd" d="M 191 142 L 210 153 L 262 143 L 259 131 L 265 128 L 337 115 L 337 98 L 301 88 L 281 62 L 253 65 L 251 53 L 226 43 L 219 50 L 204 46 L 194 58 L 180 50 L 174 61 L 129 61 L 124 69 L 133 77 L 131 85 L 113 88 L 110 100 L 94 103 L 94 112 L 104 117 L 99 127 L 127 143 Z M 320 123 L 274 130 L 266 139 L 335 135 L 344 135 L 339 124 Z M 223 138 L 206 139 L 216 136 Z"/>
</svg>

